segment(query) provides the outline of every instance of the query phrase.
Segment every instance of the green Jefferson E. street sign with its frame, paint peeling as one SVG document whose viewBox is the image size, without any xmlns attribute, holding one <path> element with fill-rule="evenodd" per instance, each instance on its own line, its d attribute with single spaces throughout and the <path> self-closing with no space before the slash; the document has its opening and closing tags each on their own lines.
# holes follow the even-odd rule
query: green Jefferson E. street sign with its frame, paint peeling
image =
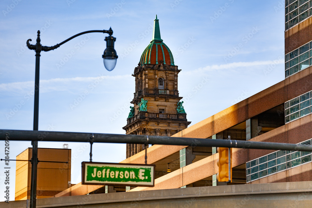
<svg viewBox="0 0 312 208">
<path fill-rule="evenodd" d="M 82 184 L 154 186 L 155 165 L 82 162 Z"/>
</svg>

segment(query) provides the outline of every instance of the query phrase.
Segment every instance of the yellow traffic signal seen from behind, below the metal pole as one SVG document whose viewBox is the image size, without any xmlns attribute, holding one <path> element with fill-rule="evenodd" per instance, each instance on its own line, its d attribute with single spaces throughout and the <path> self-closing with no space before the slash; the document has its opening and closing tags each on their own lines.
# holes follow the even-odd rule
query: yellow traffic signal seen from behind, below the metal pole
<svg viewBox="0 0 312 208">
<path fill-rule="evenodd" d="M 217 180 L 219 182 L 232 182 L 232 148 L 218 147 L 217 151 L 219 152 Z"/>
</svg>

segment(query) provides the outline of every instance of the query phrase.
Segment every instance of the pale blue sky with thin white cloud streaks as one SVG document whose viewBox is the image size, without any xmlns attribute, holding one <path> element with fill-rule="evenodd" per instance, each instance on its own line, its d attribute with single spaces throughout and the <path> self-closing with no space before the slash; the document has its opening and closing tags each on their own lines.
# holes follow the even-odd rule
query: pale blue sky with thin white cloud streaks
<svg viewBox="0 0 312 208">
<path fill-rule="evenodd" d="M 39 130 L 124 134 L 134 68 L 152 39 L 155 15 L 163 42 L 182 71 L 178 90 L 193 125 L 285 79 L 284 4 L 280 0 L 2 0 L 0 2 L 0 129 L 32 130 L 37 30 L 54 46 L 88 30 L 114 31 L 119 56 L 107 71 L 103 33 L 72 39 L 40 57 Z M 132 105 L 131 105 L 132 106 Z M 39 142 L 41 148 L 62 143 Z M 71 183 L 81 181 L 90 144 L 67 143 Z M 0 157 L 4 158 L 4 141 Z M 10 142 L 10 159 L 31 142 Z M 2 150 L 1 150 L 2 149 Z M 83 150 L 83 151 L 81 151 Z M 94 162 L 121 162 L 125 144 L 95 143 Z M 4 190 L 0 162 L 0 192 Z M 10 200 L 15 167 L 11 161 Z M 3 195 L 0 201 L 4 201 Z"/>
</svg>

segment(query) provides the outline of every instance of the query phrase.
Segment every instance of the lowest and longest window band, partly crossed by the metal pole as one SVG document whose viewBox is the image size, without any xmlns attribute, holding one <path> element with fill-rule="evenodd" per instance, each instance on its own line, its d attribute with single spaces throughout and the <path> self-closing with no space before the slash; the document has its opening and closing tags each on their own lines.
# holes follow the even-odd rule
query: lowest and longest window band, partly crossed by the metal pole
<svg viewBox="0 0 312 208">
<path fill-rule="evenodd" d="M 299 144 L 311 145 L 311 139 Z M 309 162 L 311 162 L 311 152 L 279 150 L 246 162 L 246 182 L 268 177 Z"/>
</svg>

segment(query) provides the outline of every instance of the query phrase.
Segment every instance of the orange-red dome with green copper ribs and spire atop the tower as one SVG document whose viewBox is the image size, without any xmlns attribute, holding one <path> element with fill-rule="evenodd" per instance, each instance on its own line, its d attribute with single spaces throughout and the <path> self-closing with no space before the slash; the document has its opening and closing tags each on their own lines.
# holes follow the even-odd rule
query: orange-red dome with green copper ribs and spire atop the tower
<svg viewBox="0 0 312 208">
<path fill-rule="evenodd" d="M 159 22 L 156 15 L 154 20 L 153 39 L 145 48 L 140 63 L 156 65 L 160 64 L 161 61 L 163 61 L 164 64 L 174 66 L 173 55 L 160 37 Z"/>
</svg>

